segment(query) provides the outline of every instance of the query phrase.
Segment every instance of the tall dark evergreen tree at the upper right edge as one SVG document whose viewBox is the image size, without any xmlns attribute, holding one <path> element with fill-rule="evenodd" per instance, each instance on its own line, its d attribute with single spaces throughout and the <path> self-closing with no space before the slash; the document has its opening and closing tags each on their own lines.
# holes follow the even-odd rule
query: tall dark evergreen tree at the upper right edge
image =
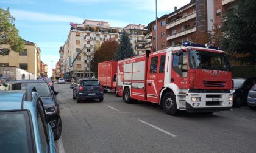
<svg viewBox="0 0 256 153">
<path fill-rule="evenodd" d="M 237 0 L 224 15 L 222 47 L 243 64 L 256 64 L 256 0 Z"/>
</svg>

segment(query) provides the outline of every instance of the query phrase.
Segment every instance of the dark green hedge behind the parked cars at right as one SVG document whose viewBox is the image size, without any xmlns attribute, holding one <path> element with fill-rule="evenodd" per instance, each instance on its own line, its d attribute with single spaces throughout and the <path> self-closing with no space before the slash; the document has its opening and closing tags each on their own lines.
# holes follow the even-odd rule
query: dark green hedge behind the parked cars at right
<svg viewBox="0 0 256 153">
<path fill-rule="evenodd" d="M 256 77 L 256 66 L 232 66 L 232 77 Z"/>
</svg>

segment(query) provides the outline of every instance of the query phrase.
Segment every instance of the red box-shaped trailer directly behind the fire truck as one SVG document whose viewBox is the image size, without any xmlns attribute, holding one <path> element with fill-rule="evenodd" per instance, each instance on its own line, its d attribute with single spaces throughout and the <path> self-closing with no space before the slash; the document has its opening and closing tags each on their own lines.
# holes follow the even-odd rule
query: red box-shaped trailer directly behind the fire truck
<svg viewBox="0 0 256 153">
<path fill-rule="evenodd" d="M 104 92 L 112 90 L 116 92 L 117 61 L 104 61 L 98 64 L 98 80 L 104 87 Z"/>
</svg>

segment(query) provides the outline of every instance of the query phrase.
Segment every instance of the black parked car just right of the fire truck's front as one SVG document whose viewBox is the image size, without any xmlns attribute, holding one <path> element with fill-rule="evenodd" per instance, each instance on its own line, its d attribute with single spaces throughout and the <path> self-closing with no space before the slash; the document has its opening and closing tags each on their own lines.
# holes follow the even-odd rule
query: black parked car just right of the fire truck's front
<svg viewBox="0 0 256 153">
<path fill-rule="evenodd" d="M 233 106 L 241 107 L 247 103 L 248 92 L 256 84 L 256 77 L 232 78 L 234 89 L 230 90 L 233 94 Z"/>
</svg>

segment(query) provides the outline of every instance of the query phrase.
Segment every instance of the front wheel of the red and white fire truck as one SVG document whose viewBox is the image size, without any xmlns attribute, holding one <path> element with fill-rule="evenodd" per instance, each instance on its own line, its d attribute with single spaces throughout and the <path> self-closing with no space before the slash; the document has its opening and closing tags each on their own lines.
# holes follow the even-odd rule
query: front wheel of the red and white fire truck
<svg viewBox="0 0 256 153">
<path fill-rule="evenodd" d="M 178 112 L 176 98 L 173 92 L 166 92 L 165 97 L 163 97 L 163 110 L 166 114 L 176 115 Z"/>
</svg>

